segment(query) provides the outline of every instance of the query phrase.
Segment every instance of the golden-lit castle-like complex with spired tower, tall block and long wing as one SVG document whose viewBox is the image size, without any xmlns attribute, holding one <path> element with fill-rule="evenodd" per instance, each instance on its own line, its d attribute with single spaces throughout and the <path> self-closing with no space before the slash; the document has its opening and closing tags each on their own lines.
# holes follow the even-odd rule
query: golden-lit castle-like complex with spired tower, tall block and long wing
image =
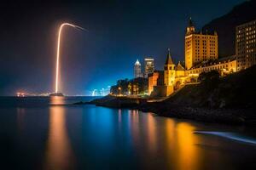
<svg viewBox="0 0 256 170">
<path fill-rule="evenodd" d="M 197 34 L 192 20 L 189 20 L 189 26 L 185 35 L 185 68 L 178 62 L 174 64 L 170 49 L 164 65 L 164 84 L 158 83 L 159 79 L 153 74 L 148 78 L 148 94 L 151 96 L 166 97 L 171 95 L 177 89 L 185 84 L 197 82 L 198 77 L 203 72 L 218 71 L 220 76 L 225 76 L 236 72 L 236 57 L 230 56 L 218 59 L 218 36 Z M 155 85 L 155 82 L 157 84 Z M 153 90 L 152 90 L 153 86 Z"/>
</svg>

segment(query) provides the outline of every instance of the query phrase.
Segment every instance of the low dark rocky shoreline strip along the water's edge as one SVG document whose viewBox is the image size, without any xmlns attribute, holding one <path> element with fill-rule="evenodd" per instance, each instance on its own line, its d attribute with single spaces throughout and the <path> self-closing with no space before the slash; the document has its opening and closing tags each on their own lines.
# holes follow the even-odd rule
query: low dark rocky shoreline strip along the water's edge
<svg viewBox="0 0 256 170">
<path fill-rule="evenodd" d="M 212 122 L 230 125 L 247 125 L 256 127 L 254 110 L 250 109 L 214 109 L 192 107 L 189 105 L 173 105 L 165 100 L 147 102 L 147 99 L 106 96 L 90 102 L 79 102 L 76 105 L 98 105 L 110 108 L 136 109 L 153 112 L 158 116 L 190 119 L 198 122 Z"/>
</svg>

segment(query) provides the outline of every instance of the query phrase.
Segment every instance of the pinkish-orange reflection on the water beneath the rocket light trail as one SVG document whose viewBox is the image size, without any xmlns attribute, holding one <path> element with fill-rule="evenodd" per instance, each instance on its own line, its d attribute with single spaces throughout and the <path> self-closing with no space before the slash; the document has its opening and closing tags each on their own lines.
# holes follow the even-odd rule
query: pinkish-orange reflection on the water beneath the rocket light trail
<svg viewBox="0 0 256 170">
<path fill-rule="evenodd" d="M 52 97 L 52 103 L 62 104 L 62 97 Z M 73 168 L 73 150 L 66 127 L 66 113 L 63 106 L 49 108 L 49 136 L 46 148 L 46 169 Z"/>
</svg>

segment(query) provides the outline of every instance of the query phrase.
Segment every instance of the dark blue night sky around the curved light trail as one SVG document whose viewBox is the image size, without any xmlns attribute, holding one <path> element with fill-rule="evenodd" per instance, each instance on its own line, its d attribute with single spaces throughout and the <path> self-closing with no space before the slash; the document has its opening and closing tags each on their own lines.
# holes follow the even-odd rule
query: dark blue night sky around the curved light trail
<svg viewBox="0 0 256 170">
<path fill-rule="evenodd" d="M 0 4 L 0 95 L 19 90 L 54 91 L 57 30 L 67 21 L 89 32 L 65 28 L 61 91 L 88 94 L 120 78 L 131 78 L 136 59 L 154 56 L 162 69 L 166 48 L 183 60 L 189 16 L 197 28 L 244 0 L 62 1 Z M 64 83 L 65 82 L 65 83 Z"/>
</svg>

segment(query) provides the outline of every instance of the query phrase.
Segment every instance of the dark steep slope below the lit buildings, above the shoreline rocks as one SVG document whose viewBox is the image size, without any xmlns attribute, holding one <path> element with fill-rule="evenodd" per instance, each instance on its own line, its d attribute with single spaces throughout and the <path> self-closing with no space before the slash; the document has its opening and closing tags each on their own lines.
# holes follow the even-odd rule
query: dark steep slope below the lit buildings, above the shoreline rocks
<svg viewBox="0 0 256 170">
<path fill-rule="evenodd" d="M 214 82 L 187 85 L 165 102 L 203 108 L 256 108 L 256 65 Z"/>
</svg>

